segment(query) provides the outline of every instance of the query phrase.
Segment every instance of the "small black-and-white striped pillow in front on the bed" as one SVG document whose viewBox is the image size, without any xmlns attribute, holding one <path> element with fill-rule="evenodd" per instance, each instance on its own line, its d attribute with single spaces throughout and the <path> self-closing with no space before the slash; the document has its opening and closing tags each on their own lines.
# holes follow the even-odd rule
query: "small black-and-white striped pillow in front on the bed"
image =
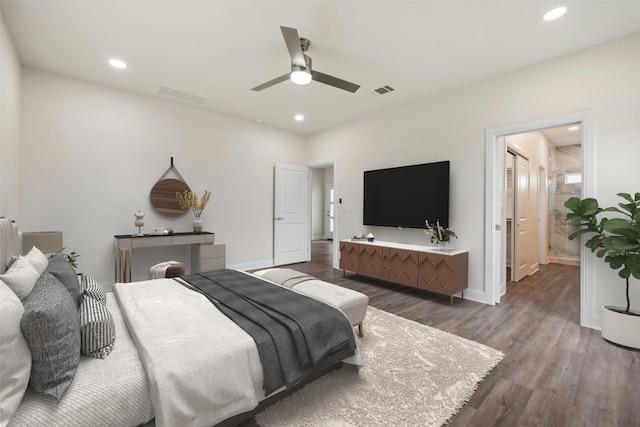
<svg viewBox="0 0 640 427">
<path fill-rule="evenodd" d="M 85 356 L 104 359 L 113 348 L 116 328 L 107 306 L 90 297 L 80 304 L 80 352 Z"/>
</svg>

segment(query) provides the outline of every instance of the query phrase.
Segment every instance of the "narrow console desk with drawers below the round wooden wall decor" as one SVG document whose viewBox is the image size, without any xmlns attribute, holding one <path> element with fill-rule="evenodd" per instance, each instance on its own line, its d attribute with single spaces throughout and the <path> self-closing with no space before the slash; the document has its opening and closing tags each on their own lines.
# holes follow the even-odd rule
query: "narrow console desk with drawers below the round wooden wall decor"
<svg viewBox="0 0 640 427">
<path fill-rule="evenodd" d="M 135 236 L 122 234 L 115 238 L 116 282 L 131 281 L 132 251 L 136 248 L 191 245 L 191 272 L 225 268 L 225 246 L 214 245 L 215 233 L 173 233 L 171 235 Z"/>
</svg>

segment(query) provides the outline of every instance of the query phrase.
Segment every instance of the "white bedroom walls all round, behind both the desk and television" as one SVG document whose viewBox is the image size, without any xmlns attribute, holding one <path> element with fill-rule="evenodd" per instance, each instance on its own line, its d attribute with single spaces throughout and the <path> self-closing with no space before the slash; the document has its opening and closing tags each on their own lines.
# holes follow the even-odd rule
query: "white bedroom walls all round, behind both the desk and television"
<svg viewBox="0 0 640 427">
<path fill-rule="evenodd" d="M 465 295 L 477 299 L 483 299 L 485 291 L 487 128 L 594 109 L 595 196 L 615 204 L 615 193 L 638 191 L 640 34 L 429 96 L 308 138 L 28 68 L 21 76 L 20 100 L 20 94 L 15 95 L 20 76 L 4 26 L 0 43 L 0 206 L 4 213 L 20 218 L 25 230 L 62 229 L 68 248 L 83 255 L 81 270 L 99 280 L 113 280 L 113 266 L 108 263 L 112 236 L 135 231 L 137 209 L 147 212 L 148 226 L 190 227 L 190 217 L 161 218 L 148 202 L 149 189 L 171 156 L 194 190 L 213 191 L 205 225 L 217 233 L 218 242 L 228 245 L 228 263 L 238 266 L 271 259 L 275 161 L 336 160 L 336 197 L 343 199 L 338 206 L 339 239 L 363 231 L 364 170 L 450 160 L 450 220 L 460 236 L 456 246 L 470 252 L 470 289 Z M 14 95 L 7 98 L 7 90 Z M 20 104 L 21 110 L 16 107 Z M 19 131 L 18 164 L 9 162 L 5 172 L 6 153 L 15 156 Z M 426 243 L 419 230 L 372 227 L 371 231 L 380 240 Z M 138 258 L 134 278 L 146 273 L 145 262 Z M 620 279 L 600 262 L 595 282 L 594 306 L 623 303 Z M 638 288 L 632 290 L 636 307 Z"/>
</svg>

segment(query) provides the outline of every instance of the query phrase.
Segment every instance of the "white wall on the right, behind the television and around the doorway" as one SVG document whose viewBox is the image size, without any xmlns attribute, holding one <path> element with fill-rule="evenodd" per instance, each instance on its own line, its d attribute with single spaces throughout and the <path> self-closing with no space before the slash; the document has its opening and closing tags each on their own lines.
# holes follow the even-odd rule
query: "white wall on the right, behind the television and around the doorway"
<svg viewBox="0 0 640 427">
<path fill-rule="evenodd" d="M 470 255 L 465 296 L 484 300 L 485 130 L 595 109 L 595 196 L 617 203 L 617 192 L 640 191 L 639 53 L 635 34 L 313 135 L 311 158 L 337 160 L 343 205 L 336 237 L 364 229 L 380 240 L 425 244 L 418 230 L 362 226 L 362 173 L 450 160 L 455 246 Z M 601 262 L 596 269 L 595 306 L 620 304 L 624 293 L 616 273 Z M 639 288 L 636 283 L 636 307 Z"/>
</svg>

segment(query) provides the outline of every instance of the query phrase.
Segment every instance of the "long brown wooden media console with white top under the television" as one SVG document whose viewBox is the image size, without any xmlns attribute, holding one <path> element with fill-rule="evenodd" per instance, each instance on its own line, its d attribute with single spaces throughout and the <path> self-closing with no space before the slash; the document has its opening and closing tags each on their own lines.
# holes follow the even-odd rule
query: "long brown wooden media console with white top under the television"
<svg viewBox="0 0 640 427">
<path fill-rule="evenodd" d="M 419 245 L 363 240 L 340 241 L 340 268 L 439 294 L 453 295 L 468 286 L 469 253 Z"/>
</svg>

